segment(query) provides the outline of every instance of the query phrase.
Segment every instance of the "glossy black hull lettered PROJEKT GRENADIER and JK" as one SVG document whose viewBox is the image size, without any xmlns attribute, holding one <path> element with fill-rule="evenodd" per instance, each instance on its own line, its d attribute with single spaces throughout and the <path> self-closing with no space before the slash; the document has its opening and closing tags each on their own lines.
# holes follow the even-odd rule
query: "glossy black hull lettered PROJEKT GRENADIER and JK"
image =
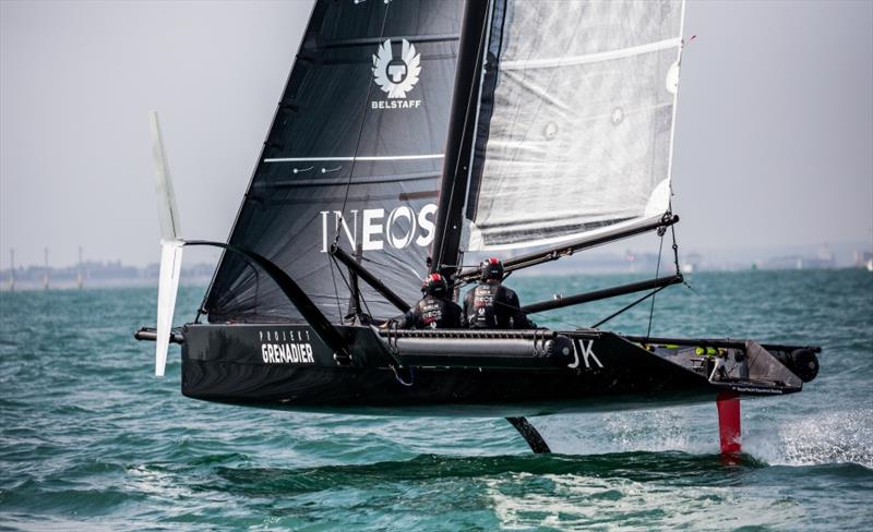
<svg viewBox="0 0 873 532">
<path fill-rule="evenodd" d="M 387 339 L 367 327 L 339 330 L 351 346 L 350 363 L 337 361 L 307 326 L 186 326 L 182 394 L 299 411 L 522 416 L 687 404 L 714 401 L 723 391 L 772 396 L 802 388 L 763 349 L 751 378 L 723 373 L 710 380 L 706 358 L 694 356 L 702 348 L 687 341 L 655 347 L 597 330 L 395 331 Z M 542 335 L 570 339 L 571 354 L 546 356 Z M 726 360 L 740 352 L 751 351 L 721 350 Z"/>
</svg>

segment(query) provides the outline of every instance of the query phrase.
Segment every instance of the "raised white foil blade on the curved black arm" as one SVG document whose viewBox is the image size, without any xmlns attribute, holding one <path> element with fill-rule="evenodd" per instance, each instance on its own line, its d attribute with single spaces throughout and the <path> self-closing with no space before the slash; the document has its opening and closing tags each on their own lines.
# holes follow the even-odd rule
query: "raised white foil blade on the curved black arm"
<svg viewBox="0 0 873 532">
<path fill-rule="evenodd" d="M 182 230 L 176 194 L 164 152 L 157 112 L 150 114 L 152 122 L 152 157 L 155 165 L 155 192 L 157 215 L 160 225 L 160 278 L 157 290 L 157 340 L 155 342 L 155 375 L 164 376 L 169 349 L 172 312 L 179 290 L 179 274 L 182 266 Z"/>
</svg>

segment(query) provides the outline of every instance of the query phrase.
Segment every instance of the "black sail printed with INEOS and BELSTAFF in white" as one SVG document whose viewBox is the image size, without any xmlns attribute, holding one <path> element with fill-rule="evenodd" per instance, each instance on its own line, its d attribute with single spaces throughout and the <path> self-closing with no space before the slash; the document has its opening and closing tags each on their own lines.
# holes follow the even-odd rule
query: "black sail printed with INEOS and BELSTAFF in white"
<svg viewBox="0 0 873 532">
<path fill-rule="evenodd" d="M 320 0 L 230 243 L 287 271 L 332 321 L 349 307 L 338 245 L 408 302 L 434 237 L 457 57 L 454 0 Z M 397 310 L 361 283 L 364 312 Z M 300 321 L 255 266 L 222 258 L 210 322 Z"/>
</svg>

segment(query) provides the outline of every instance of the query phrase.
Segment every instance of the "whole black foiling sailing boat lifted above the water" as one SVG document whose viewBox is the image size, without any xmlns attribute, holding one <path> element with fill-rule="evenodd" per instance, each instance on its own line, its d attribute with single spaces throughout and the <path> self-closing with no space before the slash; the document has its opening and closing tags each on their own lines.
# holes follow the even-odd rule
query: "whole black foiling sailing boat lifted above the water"
<svg viewBox="0 0 873 532">
<path fill-rule="evenodd" d="M 288 410 L 526 416 L 800 391 L 820 348 L 574 330 L 400 330 L 387 322 L 464 256 L 536 251 L 506 274 L 679 220 L 670 173 L 678 0 L 315 2 L 228 242 L 184 240 L 155 138 L 156 373 L 182 394 Z M 224 249 L 196 318 L 171 328 L 183 246 Z M 657 291 L 668 277 L 525 306 Z M 385 325 L 387 324 L 387 326 Z"/>
</svg>

